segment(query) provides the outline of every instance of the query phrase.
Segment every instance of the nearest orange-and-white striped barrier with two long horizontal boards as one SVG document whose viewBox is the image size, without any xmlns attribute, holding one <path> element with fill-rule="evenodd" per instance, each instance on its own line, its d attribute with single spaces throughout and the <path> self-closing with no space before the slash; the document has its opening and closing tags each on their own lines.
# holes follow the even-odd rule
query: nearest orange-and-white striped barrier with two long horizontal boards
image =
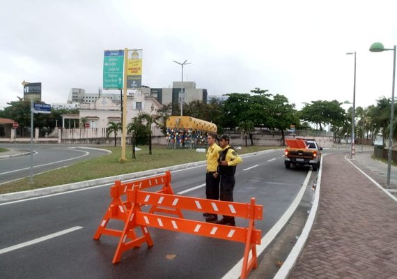
<svg viewBox="0 0 397 279">
<path fill-rule="evenodd" d="M 238 202 L 222 202 L 213 199 L 200 199 L 196 197 L 182 197 L 163 193 L 150 193 L 132 189 L 127 191 L 127 199 L 132 204 L 128 212 L 128 222 L 125 223 L 120 237 L 113 263 L 120 261 L 121 255 L 126 250 L 141 246 L 146 242 L 153 246 L 153 240 L 148 232 L 148 227 L 168 229 L 175 232 L 186 232 L 200 236 L 209 236 L 217 239 L 226 239 L 245 243 L 242 273 L 240 278 L 247 278 L 249 271 L 258 265 L 256 257 L 256 245 L 260 244 L 261 231 L 255 229 L 255 220 L 262 220 L 263 206 L 255 204 L 255 198 L 251 198 L 250 204 Z M 162 216 L 155 213 L 141 211 L 141 205 L 166 206 L 175 209 L 217 213 L 226 216 L 245 218 L 249 221 L 248 227 L 233 227 L 205 223 L 196 220 L 187 220 L 170 216 Z M 142 236 L 135 237 L 134 229 L 140 227 Z M 127 238 L 130 241 L 127 241 Z M 249 252 L 251 258 L 249 259 Z"/>
</svg>

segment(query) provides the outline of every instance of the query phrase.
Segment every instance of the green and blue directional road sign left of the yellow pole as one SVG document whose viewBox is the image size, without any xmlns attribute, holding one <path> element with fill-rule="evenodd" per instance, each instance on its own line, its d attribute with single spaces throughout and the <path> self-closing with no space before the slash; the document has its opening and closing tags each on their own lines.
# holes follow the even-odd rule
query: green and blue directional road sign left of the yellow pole
<svg viewBox="0 0 397 279">
<path fill-rule="evenodd" d="M 124 50 L 105 50 L 103 88 L 123 89 Z"/>
</svg>

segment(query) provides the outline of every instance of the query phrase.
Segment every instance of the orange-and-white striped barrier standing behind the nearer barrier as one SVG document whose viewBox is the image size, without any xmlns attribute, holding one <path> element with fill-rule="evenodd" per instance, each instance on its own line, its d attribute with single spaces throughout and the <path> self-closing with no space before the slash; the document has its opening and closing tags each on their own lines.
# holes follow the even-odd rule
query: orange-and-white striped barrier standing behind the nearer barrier
<svg viewBox="0 0 397 279">
<path fill-rule="evenodd" d="M 128 220 L 128 211 L 132 208 L 132 204 L 128 202 L 127 199 L 127 190 L 133 189 L 147 189 L 153 188 L 156 186 L 162 186 L 161 190 L 157 191 L 157 193 L 166 193 L 169 195 L 173 195 L 173 190 L 171 188 L 171 172 L 167 171 L 165 174 L 153 176 L 146 179 L 139 179 L 137 181 L 125 182 L 115 181 L 114 186 L 110 188 L 110 196 L 111 203 L 102 218 L 102 222 L 98 226 L 93 239 L 98 240 L 102 234 L 107 234 L 110 236 L 118 236 L 120 237 L 122 231 L 118 229 L 110 229 L 107 227 L 109 220 L 116 219 L 121 220 L 123 223 L 127 223 Z M 124 199 L 124 200 L 123 200 Z M 183 218 L 182 211 L 180 209 L 166 209 L 164 206 L 152 206 L 150 209 L 150 213 L 155 211 L 174 214 L 179 218 Z M 136 238 L 134 232 L 130 232 L 130 236 L 132 239 Z"/>
</svg>

